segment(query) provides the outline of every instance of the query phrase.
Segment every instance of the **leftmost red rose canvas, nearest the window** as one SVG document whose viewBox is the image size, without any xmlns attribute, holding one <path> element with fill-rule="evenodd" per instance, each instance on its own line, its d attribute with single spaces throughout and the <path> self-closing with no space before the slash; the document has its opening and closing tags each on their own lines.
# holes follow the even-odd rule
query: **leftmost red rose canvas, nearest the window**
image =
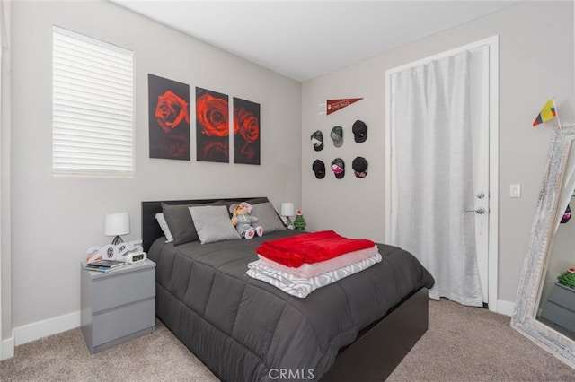
<svg viewBox="0 0 575 382">
<path fill-rule="evenodd" d="M 190 85 L 147 75 L 150 158 L 190 161 Z"/>
</svg>

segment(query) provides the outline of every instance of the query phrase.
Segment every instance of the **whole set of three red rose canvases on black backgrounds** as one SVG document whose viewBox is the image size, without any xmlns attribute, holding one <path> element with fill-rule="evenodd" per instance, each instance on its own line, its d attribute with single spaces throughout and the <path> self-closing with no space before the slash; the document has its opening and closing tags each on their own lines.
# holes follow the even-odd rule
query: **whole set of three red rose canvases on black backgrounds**
<svg viewBox="0 0 575 382">
<path fill-rule="evenodd" d="M 190 86 L 148 74 L 150 158 L 190 161 Z M 233 98 L 234 163 L 261 161 L 260 104 Z M 196 88 L 196 161 L 230 161 L 229 97 Z"/>
</svg>

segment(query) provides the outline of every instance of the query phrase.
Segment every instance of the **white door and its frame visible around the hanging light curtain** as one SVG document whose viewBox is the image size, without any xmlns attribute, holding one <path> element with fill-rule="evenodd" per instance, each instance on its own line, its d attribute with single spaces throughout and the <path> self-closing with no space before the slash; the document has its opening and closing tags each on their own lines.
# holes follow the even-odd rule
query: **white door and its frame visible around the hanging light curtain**
<svg viewBox="0 0 575 382">
<path fill-rule="evenodd" d="M 482 288 L 482 300 L 496 310 L 497 300 L 497 37 L 478 41 L 456 48 L 444 54 L 432 56 L 417 62 L 386 71 L 386 216 L 385 239 L 393 243 L 394 222 L 397 213 L 397 198 L 394 194 L 394 164 L 397 151 L 394 150 L 393 75 L 411 66 L 426 64 L 440 57 L 452 56 L 468 50 L 471 53 L 471 117 L 473 131 L 473 188 L 474 204 L 466 213 L 475 216 L 475 239 L 477 265 Z M 401 154 L 401 153 L 400 153 Z M 491 216 L 494 213 L 494 216 Z"/>
</svg>

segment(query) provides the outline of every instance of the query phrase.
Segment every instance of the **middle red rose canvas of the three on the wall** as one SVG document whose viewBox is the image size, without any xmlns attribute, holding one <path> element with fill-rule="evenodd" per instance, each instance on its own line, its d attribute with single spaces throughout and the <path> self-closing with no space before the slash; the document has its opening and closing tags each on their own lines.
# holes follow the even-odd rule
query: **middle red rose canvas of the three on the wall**
<svg viewBox="0 0 575 382">
<path fill-rule="evenodd" d="M 230 161 L 229 98 L 196 88 L 196 160 Z"/>
</svg>

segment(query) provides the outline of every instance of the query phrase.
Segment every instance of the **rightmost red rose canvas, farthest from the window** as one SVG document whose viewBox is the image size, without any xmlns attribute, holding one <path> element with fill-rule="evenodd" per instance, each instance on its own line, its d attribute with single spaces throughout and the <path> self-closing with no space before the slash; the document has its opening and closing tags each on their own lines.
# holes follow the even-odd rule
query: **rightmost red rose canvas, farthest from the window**
<svg viewBox="0 0 575 382">
<path fill-rule="evenodd" d="M 260 104 L 234 97 L 234 163 L 260 164 Z"/>
</svg>

